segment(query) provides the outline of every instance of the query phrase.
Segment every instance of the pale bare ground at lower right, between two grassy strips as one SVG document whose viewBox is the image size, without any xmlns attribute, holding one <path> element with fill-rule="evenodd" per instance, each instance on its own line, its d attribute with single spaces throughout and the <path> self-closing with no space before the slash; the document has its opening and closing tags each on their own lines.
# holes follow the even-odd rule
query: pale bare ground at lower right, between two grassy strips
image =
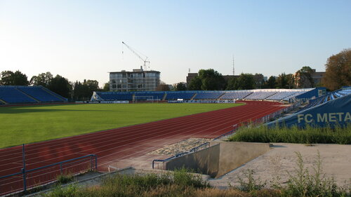
<svg viewBox="0 0 351 197">
<path fill-rule="evenodd" d="M 312 146 L 311 146 L 312 145 Z M 211 185 L 225 188 L 238 185 L 238 177 L 245 170 L 253 170 L 255 179 L 267 182 L 267 186 L 280 177 L 279 182 L 285 184 L 289 173 L 296 175 L 297 155 L 303 157 L 303 163 L 310 173 L 317 161 L 318 152 L 322 160 L 322 168 L 326 177 L 333 177 L 339 186 L 351 184 L 351 145 L 339 144 L 287 144 L 274 143 L 270 151 L 258 156 L 249 163 L 228 172 L 218 179 L 208 179 Z"/>
</svg>

